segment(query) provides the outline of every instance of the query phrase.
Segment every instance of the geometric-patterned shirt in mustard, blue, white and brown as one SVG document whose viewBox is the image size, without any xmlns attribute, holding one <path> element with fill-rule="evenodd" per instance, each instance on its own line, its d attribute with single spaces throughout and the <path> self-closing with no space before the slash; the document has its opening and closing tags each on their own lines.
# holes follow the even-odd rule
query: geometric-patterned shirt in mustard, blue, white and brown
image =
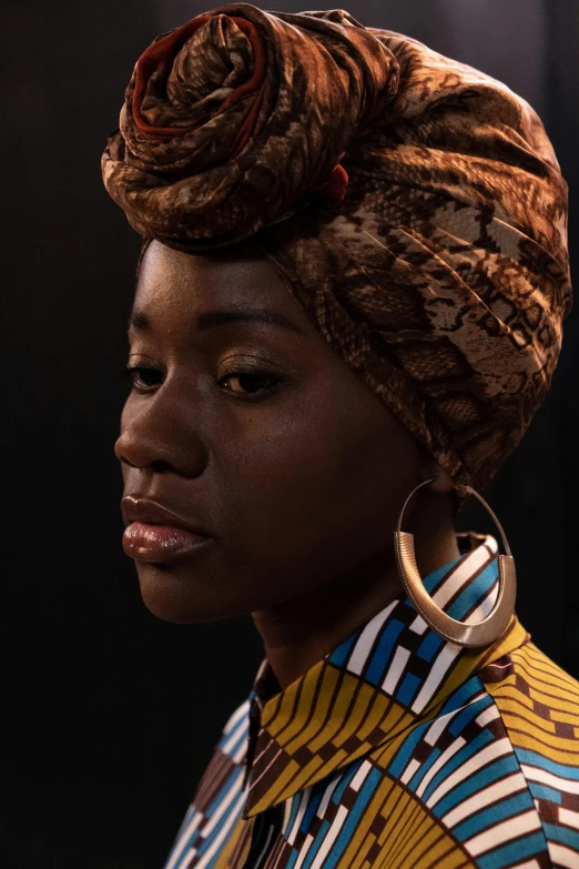
<svg viewBox="0 0 579 869">
<path fill-rule="evenodd" d="M 498 592 L 491 536 L 424 578 L 453 618 Z M 491 646 L 404 595 L 281 690 L 265 659 L 165 869 L 579 869 L 579 683 L 517 616 Z"/>
</svg>

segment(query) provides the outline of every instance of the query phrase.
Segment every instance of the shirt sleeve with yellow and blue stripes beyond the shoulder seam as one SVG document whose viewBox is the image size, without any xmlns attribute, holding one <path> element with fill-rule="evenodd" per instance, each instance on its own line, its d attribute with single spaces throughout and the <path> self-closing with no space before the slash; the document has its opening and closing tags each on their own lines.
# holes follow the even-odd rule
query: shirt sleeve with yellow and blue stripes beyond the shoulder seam
<svg viewBox="0 0 579 869">
<path fill-rule="evenodd" d="M 579 867 L 579 681 L 530 640 L 479 671 L 553 866 Z"/>
</svg>

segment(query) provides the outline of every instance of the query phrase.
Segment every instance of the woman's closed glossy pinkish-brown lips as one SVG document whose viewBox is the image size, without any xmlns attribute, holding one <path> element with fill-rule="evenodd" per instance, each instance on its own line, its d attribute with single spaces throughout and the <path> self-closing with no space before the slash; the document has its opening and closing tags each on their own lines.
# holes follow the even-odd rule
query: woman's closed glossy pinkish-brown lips
<svg viewBox="0 0 579 869">
<path fill-rule="evenodd" d="M 121 512 L 126 525 L 123 549 L 138 562 L 182 560 L 213 542 L 196 523 L 150 498 L 128 495 L 121 501 Z"/>
</svg>

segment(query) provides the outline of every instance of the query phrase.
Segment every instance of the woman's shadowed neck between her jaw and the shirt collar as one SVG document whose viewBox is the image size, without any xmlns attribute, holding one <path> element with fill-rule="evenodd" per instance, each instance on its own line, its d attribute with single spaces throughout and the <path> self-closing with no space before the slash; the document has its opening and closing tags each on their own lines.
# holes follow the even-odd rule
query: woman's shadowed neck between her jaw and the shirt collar
<svg viewBox="0 0 579 869">
<path fill-rule="evenodd" d="M 423 576 L 459 555 L 450 505 L 416 516 L 416 559 Z M 394 547 L 302 595 L 252 613 L 270 665 L 285 689 L 395 598 L 405 596 Z"/>
</svg>

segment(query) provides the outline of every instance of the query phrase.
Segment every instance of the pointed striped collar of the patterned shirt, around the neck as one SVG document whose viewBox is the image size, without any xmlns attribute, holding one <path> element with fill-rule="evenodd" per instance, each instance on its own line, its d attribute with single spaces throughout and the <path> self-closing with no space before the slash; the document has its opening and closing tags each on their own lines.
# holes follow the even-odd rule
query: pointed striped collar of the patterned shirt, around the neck
<svg viewBox="0 0 579 869">
<path fill-rule="evenodd" d="M 423 578 L 445 613 L 480 622 L 498 594 L 498 544 L 459 534 L 460 556 Z M 250 741 L 243 816 L 288 799 L 379 746 L 418 718 L 434 718 L 473 673 L 522 645 L 514 614 L 490 646 L 441 638 L 404 595 L 328 653 L 285 690 L 265 658 L 250 694 Z"/>
</svg>

